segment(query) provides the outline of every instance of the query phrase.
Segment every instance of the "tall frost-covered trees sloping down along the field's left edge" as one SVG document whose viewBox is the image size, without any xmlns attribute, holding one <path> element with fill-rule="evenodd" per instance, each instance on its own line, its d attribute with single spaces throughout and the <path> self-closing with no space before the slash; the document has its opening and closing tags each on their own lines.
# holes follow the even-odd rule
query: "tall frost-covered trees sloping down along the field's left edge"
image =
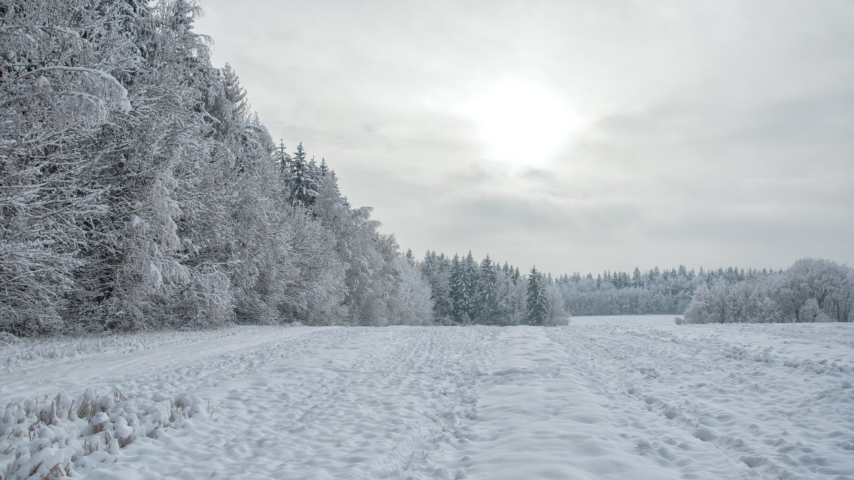
<svg viewBox="0 0 854 480">
<path fill-rule="evenodd" d="M 395 238 L 272 140 L 198 14 L 0 2 L 0 331 L 429 322 Z"/>
</svg>

